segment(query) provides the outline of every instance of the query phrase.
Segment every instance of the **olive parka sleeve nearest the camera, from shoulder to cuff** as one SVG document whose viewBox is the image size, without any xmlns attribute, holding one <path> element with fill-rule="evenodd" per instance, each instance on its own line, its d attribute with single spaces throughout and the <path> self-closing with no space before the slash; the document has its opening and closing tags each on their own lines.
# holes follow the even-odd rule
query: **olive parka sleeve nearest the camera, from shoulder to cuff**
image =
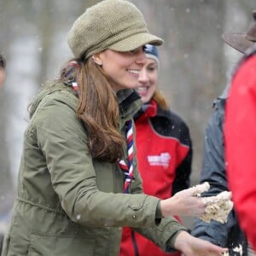
<svg viewBox="0 0 256 256">
<path fill-rule="evenodd" d="M 53 189 L 68 217 L 88 226 L 153 226 L 159 199 L 143 194 L 108 193 L 97 188 L 86 131 L 75 111 L 56 99 L 49 99 L 38 108 L 38 145 L 47 162 Z M 116 172 L 115 165 L 106 163 L 102 167 Z"/>
</svg>

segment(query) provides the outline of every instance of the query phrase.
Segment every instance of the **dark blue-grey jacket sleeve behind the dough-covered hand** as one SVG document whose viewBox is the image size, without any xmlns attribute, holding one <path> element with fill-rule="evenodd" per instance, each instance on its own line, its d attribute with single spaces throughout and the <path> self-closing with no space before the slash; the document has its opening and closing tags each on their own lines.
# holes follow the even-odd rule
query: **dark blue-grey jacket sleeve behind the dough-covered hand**
<svg viewBox="0 0 256 256">
<path fill-rule="evenodd" d="M 218 193 L 228 190 L 224 163 L 223 119 L 224 100 L 218 100 L 205 132 L 200 183 L 208 182 L 210 189 L 203 196 L 218 195 Z M 225 247 L 230 230 L 234 225 L 236 225 L 234 211 L 230 212 L 225 224 L 213 220 L 206 223 L 195 218 L 192 235 Z"/>
</svg>

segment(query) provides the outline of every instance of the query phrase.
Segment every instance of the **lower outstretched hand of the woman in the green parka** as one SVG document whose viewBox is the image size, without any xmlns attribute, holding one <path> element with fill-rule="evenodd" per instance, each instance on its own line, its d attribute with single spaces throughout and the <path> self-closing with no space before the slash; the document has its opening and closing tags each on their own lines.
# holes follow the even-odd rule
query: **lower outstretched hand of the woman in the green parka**
<svg viewBox="0 0 256 256">
<path fill-rule="evenodd" d="M 191 236 L 186 231 L 177 235 L 174 247 L 185 256 L 214 256 L 228 251 L 228 248 L 218 247 L 209 241 Z"/>
</svg>

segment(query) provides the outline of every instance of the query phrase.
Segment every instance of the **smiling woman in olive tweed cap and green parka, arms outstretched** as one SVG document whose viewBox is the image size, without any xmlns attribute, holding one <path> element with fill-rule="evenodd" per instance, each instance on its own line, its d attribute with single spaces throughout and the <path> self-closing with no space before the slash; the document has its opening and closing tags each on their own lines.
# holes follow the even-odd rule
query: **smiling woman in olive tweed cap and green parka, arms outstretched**
<svg viewBox="0 0 256 256">
<path fill-rule="evenodd" d="M 166 251 L 226 251 L 172 218 L 205 212 L 198 189 L 166 200 L 143 194 L 132 120 L 142 101 L 134 89 L 146 61 L 143 46 L 162 43 L 123 0 L 97 3 L 73 23 L 68 44 L 75 58 L 30 108 L 2 256 L 114 256 L 124 226 Z"/>
</svg>

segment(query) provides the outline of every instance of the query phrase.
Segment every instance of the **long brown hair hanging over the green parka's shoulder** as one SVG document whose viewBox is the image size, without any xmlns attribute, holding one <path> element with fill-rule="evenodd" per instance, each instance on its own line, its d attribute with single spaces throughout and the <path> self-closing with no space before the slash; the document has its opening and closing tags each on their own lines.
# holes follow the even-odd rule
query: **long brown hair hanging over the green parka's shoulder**
<svg viewBox="0 0 256 256">
<path fill-rule="evenodd" d="M 116 162 L 123 156 L 124 138 L 119 132 L 119 103 L 102 67 L 91 58 L 78 61 L 70 73 L 68 63 L 61 70 L 62 82 L 72 79 L 78 83 L 77 113 L 88 131 L 88 147 L 93 158 Z"/>
</svg>

